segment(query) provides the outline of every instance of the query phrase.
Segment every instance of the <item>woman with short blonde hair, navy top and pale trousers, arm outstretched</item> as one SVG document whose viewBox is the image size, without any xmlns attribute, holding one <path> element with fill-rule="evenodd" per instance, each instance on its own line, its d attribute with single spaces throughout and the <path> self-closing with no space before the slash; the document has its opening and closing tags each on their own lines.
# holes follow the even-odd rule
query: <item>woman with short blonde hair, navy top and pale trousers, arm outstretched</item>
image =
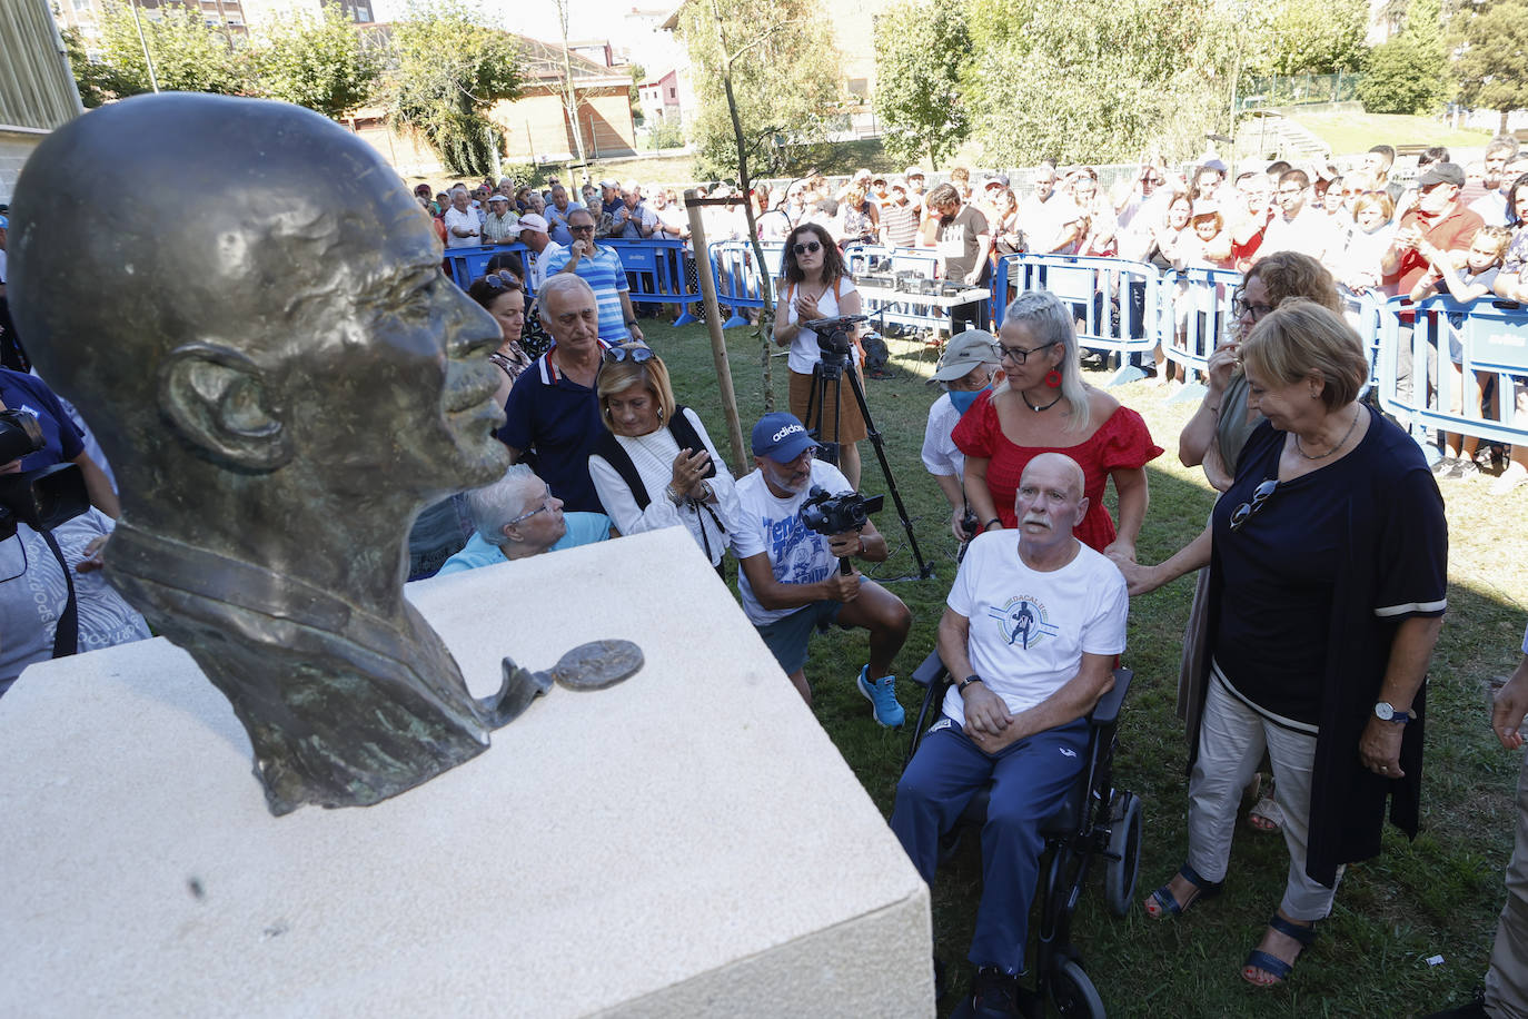
<svg viewBox="0 0 1528 1019">
<path fill-rule="evenodd" d="M 1242 788 L 1267 752 L 1290 866 L 1242 978 L 1268 987 L 1331 912 L 1343 865 L 1378 854 L 1386 807 L 1416 834 L 1447 522 L 1416 443 L 1358 400 L 1368 353 L 1340 315 L 1288 301 L 1241 359 L 1267 420 L 1210 527 L 1160 567 L 1120 568 L 1140 594 L 1210 567 L 1189 854 L 1146 912 L 1177 915 L 1221 889 Z"/>
</svg>

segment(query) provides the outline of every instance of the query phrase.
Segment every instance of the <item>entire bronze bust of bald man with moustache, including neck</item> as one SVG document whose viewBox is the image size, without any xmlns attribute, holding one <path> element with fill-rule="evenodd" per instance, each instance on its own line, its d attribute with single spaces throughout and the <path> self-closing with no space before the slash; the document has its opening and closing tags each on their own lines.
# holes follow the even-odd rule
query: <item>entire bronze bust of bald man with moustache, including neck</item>
<svg viewBox="0 0 1528 1019">
<path fill-rule="evenodd" d="M 102 171 L 108 205 L 60 199 Z M 26 163 L 11 254 L 121 481 L 107 576 L 232 701 L 272 813 L 425 782 L 545 687 L 506 660 L 475 700 L 403 599 L 420 507 L 509 463 L 500 330 L 365 142 L 277 102 L 102 107 Z"/>
</svg>

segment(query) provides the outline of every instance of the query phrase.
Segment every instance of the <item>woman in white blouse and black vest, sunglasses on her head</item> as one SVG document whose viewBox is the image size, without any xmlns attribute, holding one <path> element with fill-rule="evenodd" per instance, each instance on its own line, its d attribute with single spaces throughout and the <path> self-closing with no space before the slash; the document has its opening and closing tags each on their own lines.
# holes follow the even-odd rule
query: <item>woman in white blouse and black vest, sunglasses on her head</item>
<svg viewBox="0 0 1528 1019">
<path fill-rule="evenodd" d="M 611 347 L 596 393 L 608 432 L 594 440 L 588 475 L 616 530 L 683 526 L 723 573 L 743 509 L 700 416 L 674 402 L 663 359 L 640 344 Z"/>
</svg>

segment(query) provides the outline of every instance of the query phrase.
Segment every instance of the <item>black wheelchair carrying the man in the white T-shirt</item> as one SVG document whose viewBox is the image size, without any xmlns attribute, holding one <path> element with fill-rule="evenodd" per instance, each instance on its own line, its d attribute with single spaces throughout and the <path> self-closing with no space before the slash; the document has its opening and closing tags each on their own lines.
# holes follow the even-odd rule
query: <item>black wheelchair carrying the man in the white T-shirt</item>
<svg viewBox="0 0 1528 1019">
<path fill-rule="evenodd" d="M 1114 749 L 1120 706 L 1134 674 L 1114 671 L 1114 687 L 1099 698 L 1088 715 L 1086 765 L 1077 775 L 1067 801 L 1044 825 L 1045 849 L 1041 854 L 1039 889 L 1034 909 L 1039 921 L 1030 923 L 1033 952 L 1030 970 L 1036 976 L 1036 992 L 1048 999 L 1062 1016 L 1105 1019 L 1103 999 L 1082 967 L 1082 955 L 1071 943 L 1071 918 L 1077 911 L 1083 883 L 1094 862 L 1103 860 L 1103 898 L 1115 917 L 1125 917 L 1135 898 L 1135 872 L 1141 849 L 1141 802 L 1126 790 L 1114 788 Z M 949 671 L 938 651 L 929 654 L 914 674 L 914 683 L 924 687 L 917 729 L 908 747 L 903 767 L 912 761 L 927 727 L 940 717 L 944 691 L 950 684 Z M 987 819 L 987 790 L 978 791 L 955 827 L 944 834 L 940 862 L 953 856 L 964 831 Z M 970 998 L 960 1004 L 953 1016 L 970 1014 Z"/>
</svg>

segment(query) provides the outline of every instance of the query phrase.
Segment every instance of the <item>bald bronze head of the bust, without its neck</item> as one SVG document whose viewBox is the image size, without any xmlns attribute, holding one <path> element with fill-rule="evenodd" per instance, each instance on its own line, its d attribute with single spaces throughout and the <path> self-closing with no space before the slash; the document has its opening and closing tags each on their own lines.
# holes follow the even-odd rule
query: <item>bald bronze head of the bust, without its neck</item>
<svg viewBox="0 0 1528 1019">
<path fill-rule="evenodd" d="M 101 168 L 121 200 L 57 199 L 58 180 Z M 12 211 L 18 327 L 44 377 L 105 419 L 101 442 L 139 498 L 183 477 L 176 458 L 243 477 L 306 461 L 358 490 L 380 467 L 428 480 L 420 490 L 503 471 L 486 416 L 465 414 L 495 383 L 466 354 L 498 327 L 440 277 L 397 174 L 332 121 L 255 99 L 127 99 L 53 131 Z M 423 477 L 399 477 L 416 464 Z"/>
</svg>

